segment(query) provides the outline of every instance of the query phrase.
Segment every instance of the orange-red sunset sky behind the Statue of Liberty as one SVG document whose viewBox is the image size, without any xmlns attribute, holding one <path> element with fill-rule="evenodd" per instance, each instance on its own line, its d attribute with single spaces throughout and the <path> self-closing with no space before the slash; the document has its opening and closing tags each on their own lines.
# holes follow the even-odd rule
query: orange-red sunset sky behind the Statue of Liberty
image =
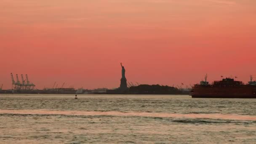
<svg viewBox="0 0 256 144">
<path fill-rule="evenodd" d="M 1 0 L 0 85 L 185 85 L 256 77 L 256 0 Z M 21 79 L 21 77 L 20 77 Z"/>
</svg>

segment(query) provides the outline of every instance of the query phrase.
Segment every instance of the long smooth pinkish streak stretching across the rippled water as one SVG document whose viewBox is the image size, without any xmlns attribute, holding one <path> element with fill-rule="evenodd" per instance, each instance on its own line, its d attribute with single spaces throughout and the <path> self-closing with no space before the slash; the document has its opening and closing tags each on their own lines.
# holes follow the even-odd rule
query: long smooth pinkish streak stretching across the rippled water
<svg viewBox="0 0 256 144">
<path fill-rule="evenodd" d="M 236 114 L 177 114 L 161 112 L 119 112 L 119 111 L 52 111 L 47 109 L 37 110 L 6 110 L 0 109 L 0 114 L 23 114 L 23 115 L 85 115 L 85 116 L 139 116 L 139 117 L 173 117 L 173 118 L 194 118 L 194 119 L 220 119 L 220 120 L 252 120 L 256 121 L 255 115 Z"/>
</svg>

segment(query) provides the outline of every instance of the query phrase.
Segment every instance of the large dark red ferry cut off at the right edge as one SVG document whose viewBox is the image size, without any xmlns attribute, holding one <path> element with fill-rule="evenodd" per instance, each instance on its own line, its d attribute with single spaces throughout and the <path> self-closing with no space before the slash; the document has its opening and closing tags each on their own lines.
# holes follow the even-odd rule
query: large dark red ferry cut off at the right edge
<svg viewBox="0 0 256 144">
<path fill-rule="evenodd" d="M 200 84 L 195 84 L 189 94 L 192 98 L 233 98 L 233 99 L 256 99 L 256 81 L 244 84 L 234 78 L 223 78 L 209 84 L 207 75 Z"/>
</svg>

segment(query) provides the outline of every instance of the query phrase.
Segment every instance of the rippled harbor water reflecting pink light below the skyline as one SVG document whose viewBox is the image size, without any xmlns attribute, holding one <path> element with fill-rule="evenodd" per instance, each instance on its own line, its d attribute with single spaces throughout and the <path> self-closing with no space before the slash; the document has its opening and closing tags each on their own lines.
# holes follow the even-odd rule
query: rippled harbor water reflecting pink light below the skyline
<svg viewBox="0 0 256 144">
<path fill-rule="evenodd" d="M 0 95 L 0 143 L 256 142 L 256 99 Z"/>
</svg>

